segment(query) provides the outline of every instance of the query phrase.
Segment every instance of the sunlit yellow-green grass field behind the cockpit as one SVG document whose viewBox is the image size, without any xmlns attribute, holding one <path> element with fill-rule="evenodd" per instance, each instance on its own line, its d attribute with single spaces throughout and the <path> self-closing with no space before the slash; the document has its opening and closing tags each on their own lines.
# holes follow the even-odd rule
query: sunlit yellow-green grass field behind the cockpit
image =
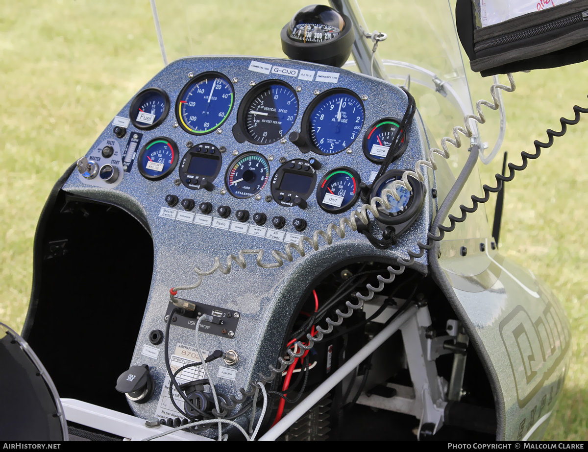
<svg viewBox="0 0 588 452">
<path fill-rule="evenodd" d="M 186 3 L 176 5 L 181 11 Z M 381 3 L 376 9 L 390 5 L 376 3 Z M 198 11 L 194 21 L 188 24 L 182 14 L 176 19 L 178 28 L 190 26 L 195 54 L 283 56 L 279 30 L 305 4 L 260 1 L 253 11 L 250 2 L 191 3 Z M 49 190 L 161 70 L 162 60 L 146 0 L 1 0 L 0 5 L 0 321 L 20 330 L 31 291 L 36 222 Z M 387 58 L 393 58 L 393 42 L 387 49 L 380 45 L 382 53 L 392 53 Z M 181 46 L 179 40 L 168 42 L 172 55 Z M 418 52 L 419 46 L 413 49 Z M 475 98 L 489 99 L 490 80 L 471 73 L 469 79 Z M 516 92 L 505 95 L 503 145 L 514 163 L 520 163 L 520 150 L 533 152 L 534 139 L 545 139 L 545 129 L 559 130 L 559 117 L 572 117 L 574 103 L 588 105 L 587 79 L 587 63 L 516 75 Z M 506 188 L 501 252 L 545 280 L 572 323 L 572 362 L 547 439 L 588 439 L 587 124 L 584 119 L 556 139 Z M 500 160 L 482 166 L 482 180 L 493 184 Z M 490 219 L 492 210 L 489 206 Z"/>
</svg>

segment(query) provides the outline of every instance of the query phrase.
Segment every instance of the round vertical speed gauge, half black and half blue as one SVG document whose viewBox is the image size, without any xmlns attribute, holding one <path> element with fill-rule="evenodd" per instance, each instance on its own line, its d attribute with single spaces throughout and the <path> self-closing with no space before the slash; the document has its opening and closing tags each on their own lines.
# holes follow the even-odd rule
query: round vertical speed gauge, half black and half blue
<svg viewBox="0 0 588 452">
<path fill-rule="evenodd" d="M 269 145 L 283 138 L 298 117 L 298 96 L 292 86 L 279 80 L 260 83 L 243 98 L 238 122 L 245 138 Z"/>
</svg>

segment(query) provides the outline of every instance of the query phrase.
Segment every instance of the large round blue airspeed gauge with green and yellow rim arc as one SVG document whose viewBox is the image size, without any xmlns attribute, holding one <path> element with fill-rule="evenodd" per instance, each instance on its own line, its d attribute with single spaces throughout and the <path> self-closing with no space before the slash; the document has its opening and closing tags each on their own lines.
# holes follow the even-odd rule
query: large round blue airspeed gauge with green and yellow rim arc
<svg viewBox="0 0 588 452">
<path fill-rule="evenodd" d="M 176 102 L 176 117 L 182 129 L 205 135 L 218 128 L 233 109 L 235 91 L 229 79 L 218 72 L 205 72 L 183 87 Z"/>
</svg>

